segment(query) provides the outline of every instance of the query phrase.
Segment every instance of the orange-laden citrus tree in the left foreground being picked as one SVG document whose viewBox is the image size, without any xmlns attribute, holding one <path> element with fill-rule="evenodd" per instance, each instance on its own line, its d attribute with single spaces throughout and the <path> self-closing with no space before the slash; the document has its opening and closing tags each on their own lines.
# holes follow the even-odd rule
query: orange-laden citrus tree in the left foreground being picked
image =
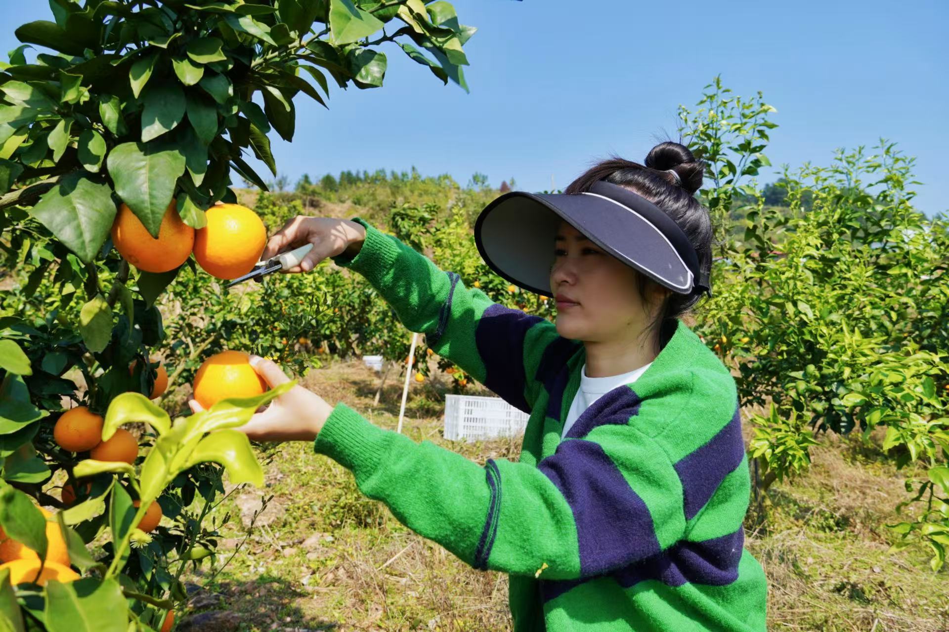
<svg viewBox="0 0 949 632">
<path fill-rule="evenodd" d="M 176 279 L 220 289 L 182 240 L 196 257 L 233 173 L 266 189 L 246 157 L 276 174 L 268 135 L 293 137 L 300 93 L 326 105 L 333 84 L 381 86 L 383 45 L 467 90 L 474 27 L 442 1 L 49 6 L 0 64 L 0 248 L 25 279 L 0 318 L 0 623 L 167 630 L 185 565 L 214 558 L 222 471 L 262 482 L 232 426 L 278 394 L 174 421 L 150 402 L 180 372 L 152 357 L 158 298 Z M 219 296 L 202 298 L 233 306 Z M 244 342 L 214 334 L 190 361 Z"/>
</svg>

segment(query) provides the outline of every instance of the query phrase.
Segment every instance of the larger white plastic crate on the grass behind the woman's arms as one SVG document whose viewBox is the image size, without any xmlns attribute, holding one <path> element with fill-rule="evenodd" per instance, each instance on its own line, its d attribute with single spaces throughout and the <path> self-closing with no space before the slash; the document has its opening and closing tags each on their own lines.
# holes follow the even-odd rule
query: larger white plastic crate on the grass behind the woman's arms
<svg viewBox="0 0 949 632">
<path fill-rule="evenodd" d="M 494 439 L 524 432 L 530 415 L 500 397 L 445 395 L 445 439 Z"/>
</svg>

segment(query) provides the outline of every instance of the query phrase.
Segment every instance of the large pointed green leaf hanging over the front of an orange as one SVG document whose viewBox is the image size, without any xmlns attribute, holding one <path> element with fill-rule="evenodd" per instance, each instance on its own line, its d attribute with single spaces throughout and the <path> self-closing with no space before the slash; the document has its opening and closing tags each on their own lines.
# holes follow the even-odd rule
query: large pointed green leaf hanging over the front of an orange
<svg viewBox="0 0 949 632">
<path fill-rule="evenodd" d="M 158 239 L 158 228 L 171 204 L 175 183 L 184 172 L 184 155 L 154 143 L 122 143 L 106 159 L 116 194 Z"/>
</svg>

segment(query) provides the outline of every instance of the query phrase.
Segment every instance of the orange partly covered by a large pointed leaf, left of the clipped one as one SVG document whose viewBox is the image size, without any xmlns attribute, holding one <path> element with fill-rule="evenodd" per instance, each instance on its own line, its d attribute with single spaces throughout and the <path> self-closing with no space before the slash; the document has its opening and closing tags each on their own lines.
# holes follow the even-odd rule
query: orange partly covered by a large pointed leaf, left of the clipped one
<svg viewBox="0 0 949 632">
<path fill-rule="evenodd" d="M 112 244 L 125 261 L 140 270 L 168 272 L 188 259 L 195 246 L 195 229 L 181 221 L 172 200 L 155 239 L 132 209 L 122 204 L 112 224 Z"/>
</svg>

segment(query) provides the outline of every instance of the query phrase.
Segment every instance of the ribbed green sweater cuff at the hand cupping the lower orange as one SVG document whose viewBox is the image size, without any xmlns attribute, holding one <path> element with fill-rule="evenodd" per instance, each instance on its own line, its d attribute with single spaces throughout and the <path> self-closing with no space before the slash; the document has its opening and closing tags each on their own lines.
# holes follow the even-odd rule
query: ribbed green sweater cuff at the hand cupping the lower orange
<svg viewBox="0 0 949 632">
<path fill-rule="evenodd" d="M 352 470 L 359 479 L 360 475 L 374 472 L 379 466 L 386 449 L 386 435 L 390 432 L 371 424 L 340 402 L 316 436 L 313 451 Z"/>
</svg>

